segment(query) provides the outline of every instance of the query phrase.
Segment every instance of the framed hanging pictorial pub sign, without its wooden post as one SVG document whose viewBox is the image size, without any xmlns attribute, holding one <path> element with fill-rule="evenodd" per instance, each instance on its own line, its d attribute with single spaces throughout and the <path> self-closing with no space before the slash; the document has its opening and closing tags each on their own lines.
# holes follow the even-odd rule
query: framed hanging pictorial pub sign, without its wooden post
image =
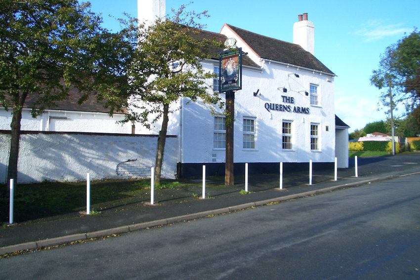
<svg viewBox="0 0 420 280">
<path fill-rule="evenodd" d="M 242 89 L 242 48 L 222 52 L 219 69 L 220 92 Z"/>
</svg>

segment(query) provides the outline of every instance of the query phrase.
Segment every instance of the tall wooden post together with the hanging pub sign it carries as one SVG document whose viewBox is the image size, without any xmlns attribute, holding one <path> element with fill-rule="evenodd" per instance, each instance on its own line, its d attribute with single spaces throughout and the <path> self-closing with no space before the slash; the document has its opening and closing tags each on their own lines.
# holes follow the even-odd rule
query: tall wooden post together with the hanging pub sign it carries
<svg viewBox="0 0 420 280">
<path fill-rule="evenodd" d="M 242 48 L 236 47 L 236 40 L 225 41 L 226 49 L 220 53 L 220 92 L 226 94 L 226 164 L 225 185 L 234 184 L 233 173 L 233 116 L 235 114 L 235 91 L 242 89 Z"/>
</svg>

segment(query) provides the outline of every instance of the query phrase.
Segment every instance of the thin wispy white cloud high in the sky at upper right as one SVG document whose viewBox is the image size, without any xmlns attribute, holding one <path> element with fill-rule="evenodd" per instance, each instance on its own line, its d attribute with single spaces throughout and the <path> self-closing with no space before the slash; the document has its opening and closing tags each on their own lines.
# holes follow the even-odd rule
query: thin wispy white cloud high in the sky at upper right
<svg viewBox="0 0 420 280">
<path fill-rule="evenodd" d="M 354 34 L 365 37 L 367 41 L 379 40 L 388 36 L 402 35 L 411 32 L 411 29 L 403 27 L 403 24 L 385 25 L 383 20 L 369 20 L 363 28 Z"/>
</svg>

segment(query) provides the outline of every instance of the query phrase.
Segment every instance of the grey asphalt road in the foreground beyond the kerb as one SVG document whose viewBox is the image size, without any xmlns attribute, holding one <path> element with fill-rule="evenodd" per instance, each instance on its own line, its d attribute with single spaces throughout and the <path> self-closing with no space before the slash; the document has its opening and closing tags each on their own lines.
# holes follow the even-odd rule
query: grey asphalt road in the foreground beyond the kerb
<svg viewBox="0 0 420 280">
<path fill-rule="evenodd" d="M 0 279 L 420 279 L 420 175 L 0 259 Z"/>
</svg>

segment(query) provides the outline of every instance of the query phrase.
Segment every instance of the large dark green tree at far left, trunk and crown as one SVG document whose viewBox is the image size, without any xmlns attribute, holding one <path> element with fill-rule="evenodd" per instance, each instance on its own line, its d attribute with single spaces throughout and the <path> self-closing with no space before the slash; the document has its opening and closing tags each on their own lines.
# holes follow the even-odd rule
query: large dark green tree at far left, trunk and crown
<svg viewBox="0 0 420 280">
<path fill-rule="evenodd" d="M 77 0 L 0 1 L 0 102 L 12 114 L 7 182 L 17 178 L 28 100 L 34 118 L 65 100 L 71 86 L 80 90 L 80 103 L 108 100 L 110 115 L 126 105 L 126 68 L 136 34 L 130 29 L 112 34 L 101 22 L 89 3 Z"/>
</svg>

